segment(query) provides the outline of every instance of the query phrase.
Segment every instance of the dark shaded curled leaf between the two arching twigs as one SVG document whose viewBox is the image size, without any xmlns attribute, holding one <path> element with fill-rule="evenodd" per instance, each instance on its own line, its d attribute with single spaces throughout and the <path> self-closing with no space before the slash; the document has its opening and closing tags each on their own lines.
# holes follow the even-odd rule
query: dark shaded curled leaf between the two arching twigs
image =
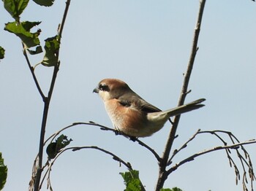
<svg viewBox="0 0 256 191">
<path fill-rule="evenodd" d="M 61 149 L 64 147 L 67 147 L 69 143 L 72 141 L 72 139 L 67 139 L 67 136 L 64 136 L 63 134 L 56 139 L 56 141 L 51 142 L 47 149 L 46 153 L 50 159 L 53 159 L 56 157 L 56 155 L 59 153 Z"/>
</svg>

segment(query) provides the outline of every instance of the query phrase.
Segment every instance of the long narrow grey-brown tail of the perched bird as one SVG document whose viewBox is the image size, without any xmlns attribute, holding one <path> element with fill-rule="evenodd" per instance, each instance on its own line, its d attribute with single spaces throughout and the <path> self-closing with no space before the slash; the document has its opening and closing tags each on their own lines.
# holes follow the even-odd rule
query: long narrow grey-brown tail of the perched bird
<svg viewBox="0 0 256 191">
<path fill-rule="evenodd" d="M 165 112 L 168 113 L 169 117 L 173 117 L 178 114 L 190 112 L 192 110 L 199 109 L 200 107 L 205 106 L 205 105 L 201 104 L 203 101 L 206 101 L 206 99 L 204 99 L 204 98 L 197 99 L 196 101 L 192 101 L 189 104 L 184 104 L 182 106 L 177 106 L 173 109 L 168 109 Z"/>
</svg>

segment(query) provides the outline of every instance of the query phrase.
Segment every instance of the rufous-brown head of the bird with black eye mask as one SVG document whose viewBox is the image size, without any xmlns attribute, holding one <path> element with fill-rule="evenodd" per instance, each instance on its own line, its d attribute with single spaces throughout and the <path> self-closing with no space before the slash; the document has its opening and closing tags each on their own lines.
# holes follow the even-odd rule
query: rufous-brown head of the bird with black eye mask
<svg viewBox="0 0 256 191">
<path fill-rule="evenodd" d="M 132 92 L 127 83 L 120 79 L 102 79 L 98 86 L 94 88 L 94 93 L 99 93 L 103 101 L 119 98 L 124 93 Z"/>
</svg>

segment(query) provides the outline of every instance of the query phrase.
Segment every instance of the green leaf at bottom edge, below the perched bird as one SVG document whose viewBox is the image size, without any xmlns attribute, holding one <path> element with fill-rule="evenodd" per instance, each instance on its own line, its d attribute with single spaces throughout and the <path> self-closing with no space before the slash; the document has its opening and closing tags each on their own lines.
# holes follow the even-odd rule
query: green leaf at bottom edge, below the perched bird
<svg viewBox="0 0 256 191">
<path fill-rule="evenodd" d="M 120 173 L 124 179 L 124 184 L 127 186 L 125 191 L 139 191 L 141 190 L 141 182 L 139 179 L 139 171 L 128 171 Z"/>
</svg>

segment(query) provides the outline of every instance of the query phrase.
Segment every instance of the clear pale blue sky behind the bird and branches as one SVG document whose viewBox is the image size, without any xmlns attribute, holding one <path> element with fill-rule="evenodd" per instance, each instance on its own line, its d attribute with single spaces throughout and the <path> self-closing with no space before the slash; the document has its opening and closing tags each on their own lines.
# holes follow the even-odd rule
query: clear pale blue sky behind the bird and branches
<svg viewBox="0 0 256 191">
<path fill-rule="evenodd" d="M 42 20 L 41 42 L 56 35 L 64 1 L 38 7 L 33 1 L 21 20 Z M 50 104 L 46 136 L 72 122 L 89 120 L 112 127 L 102 101 L 92 90 L 106 77 L 122 79 L 146 101 L 160 109 L 176 106 L 187 69 L 198 1 L 72 1 L 61 42 L 61 67 Z M 0 7 L 0 152 L 8 165 L 4 190 L 27 190 L 39 144 L 42 99 L 22 55 L 20 40 L 3 31 L 12 17 Z M 195 131 L 230 130 L 238 139 L 256 138 L 256 4 L 250 0 L 207 1 L 199 50 L 187 101 L 206 98 L 206 106 L 184 114 L 178 127 L 181 146 Z M 33 63 L 39 58 L 32 57 Z M 52 69 L 38 66 L 43 90 Z M 159 155 L 170 124 L 141 139 Z M 64 132 L 71 146 L 108 149 L 140 171 L 146 190 L 154 190 L 158 165 L 148 150 L 121 136 L 91 126 Z M 226 137 L 227 139 L 227 137 Z M 213 136 L 200 135 L 177 163 L 195 152 L 219 146 Z M 256 146 L 246 146 L 256 169 Z M 233 152 L 233 157 L 236 153 Z M 236 160 L 239 164 L 239 161 Z M 238 165 L 241 169 L 241 166 Z M 66 152 L 53 166 L 54 190 L 124 190 L 119 172 L 127 171 L 108 155 L 95 150 Z M 241 171 L 242 173 L 242 171 Z M 242 190 L 224 151 L 213 152 L 178 168 L 165 187 L 193 190 Z M 46 187 L 43 188 L 46 190 Z"/>
</svg>

